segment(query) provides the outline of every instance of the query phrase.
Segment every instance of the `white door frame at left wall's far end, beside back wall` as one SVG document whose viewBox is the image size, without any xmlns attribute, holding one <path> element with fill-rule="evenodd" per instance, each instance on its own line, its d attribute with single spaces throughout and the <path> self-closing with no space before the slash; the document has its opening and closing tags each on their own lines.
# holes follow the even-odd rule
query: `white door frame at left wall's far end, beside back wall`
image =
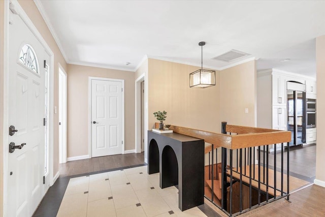
<svg viewBox="0 0 325 217">
<path fill-rule="evenodd" d="M 68 126 L 67 126 L 67 112 L 68 112 L 68 109 L 67 109 L 67 105 L 68 105 L 68 75 L 67 75 L 67 72 L 64 71 L 63 67 L 59 64 L 59 76 L 60 74 L 63 74 L 65 79 L 64 79 L 64 83 L 62 83 L 62 85 L 64 85 L 62 87 L 62 95 L 63 95 L 63 105 L 62 105 L 62 110 L 64 112 L 62 112 L 60 110 L 60 96 L 59 96 L 59 115 L 61 115 L 61 112 L 62 112 L 62 120 L 61 120 L 61 127 L 62 127 L 62 144 L 60 144 L 60 141 L 59 141 L 59 149 L 60 149 L 60 146 L 62 145 L 61 147 L 61 151 L 59 151 L 59 159 L 62 158 L 62 162 L 60 163 L 67 163 L 67 129 L 68 129 Z M 60 81 L 59 81 L 60 83 Z M 60 88 L 60 85 L 59 85 L 59 88 Z M 60 132 L 59 132 L 59 135 L 60 135 Z M 60 140 L 60 138 L 59 138 Z"/>
</svg>

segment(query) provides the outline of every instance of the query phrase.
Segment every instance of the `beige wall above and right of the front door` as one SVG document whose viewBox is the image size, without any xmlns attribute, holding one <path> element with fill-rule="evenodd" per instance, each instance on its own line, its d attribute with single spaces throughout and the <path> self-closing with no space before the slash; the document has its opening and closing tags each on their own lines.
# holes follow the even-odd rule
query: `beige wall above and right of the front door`
<svg viewBox="0 0 325 217">
<path fill-rule="evenodd" d="M 24 9 L 30 20 L 37 27 L 44 40 L 47 42 L 52 52 L 54 53 L 54 106 L 58 106 L 58 64 L 60 63 L 62 68 L 67 71 L 66 60 L 64 60 L 50 30 L 48 29 L 42 15 L 37 9 L 34 1 L 18 1 L 21 7 Z M 59 147 L 58 147 L 58 113 L 54 114 L 54 168 L 53 176 L 59 170 Z"/>
</svg>

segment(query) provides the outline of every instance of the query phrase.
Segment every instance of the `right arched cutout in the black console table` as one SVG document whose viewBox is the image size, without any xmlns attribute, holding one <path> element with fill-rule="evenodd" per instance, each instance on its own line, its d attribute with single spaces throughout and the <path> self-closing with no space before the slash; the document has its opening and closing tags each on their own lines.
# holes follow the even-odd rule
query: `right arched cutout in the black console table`
<svg viewBox="0 0 325 217">
<path fill-rule="evenodd" d="M 161 156 L 162 187 L 170 187 L 178 184 L 178 163 L 173 148 L 166 145 Z"/>
</svg>

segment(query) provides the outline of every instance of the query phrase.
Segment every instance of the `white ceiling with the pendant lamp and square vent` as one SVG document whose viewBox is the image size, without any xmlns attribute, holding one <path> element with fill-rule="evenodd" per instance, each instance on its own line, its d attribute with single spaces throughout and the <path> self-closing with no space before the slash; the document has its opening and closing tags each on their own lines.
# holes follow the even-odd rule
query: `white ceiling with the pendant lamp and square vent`
<svg viewBox="0 0 325 217">
<path fill-rule="evenodd" d="M 35 2 L 68 63 L 128 71 L 146 55 L 201 66 L 205 41 L 205 67 L 255 57 L 257 69 L 315 77 L 315 38 L 325 35 L 325 1 Z M 211 59 L 231 49 L 251 55 Z"/>
</svg>

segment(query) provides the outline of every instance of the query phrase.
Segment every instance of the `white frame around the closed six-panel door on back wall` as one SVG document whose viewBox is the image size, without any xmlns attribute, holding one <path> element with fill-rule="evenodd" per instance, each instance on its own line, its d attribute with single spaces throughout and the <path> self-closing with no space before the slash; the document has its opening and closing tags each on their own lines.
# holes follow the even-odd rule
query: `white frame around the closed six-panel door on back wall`
<svg viewBox="0 0 325 217">
<path fill-rule="evenodd" d="M 124 145 L 125 145 L 125 140 L 124 140 L 124 92 L 125 92 L 125 89 L 124 89 L 124 80 L 123 79 L 115 79 L 115 78 L 102 78 L 102 77 L 88 77 L 88 148 L 89 148 L 89 158 L 92 158 L 92 150 L 91 150 L 91 147 L 92 147 L 92 144 L 91 144 L 91 135 L 92 135 L 92 132 L 91 132 L 91 125 L 92 125 L 92 118 L 91 118 L 91 94 L 92 94 L 92 91 L 91 91 L 91 82 L 92 80 L 102 80 L 102 81 L 118 81 L 118 82 L 121 82 L 121 85 L 122 85 L 122 106 L 121 106 L 121 114 L 122 114 L 122 132 L 121 132 L 121 135 L 122 135 L 122 154 L 125 153 L 125 149 L 124 149 Z"/>
</svg>

